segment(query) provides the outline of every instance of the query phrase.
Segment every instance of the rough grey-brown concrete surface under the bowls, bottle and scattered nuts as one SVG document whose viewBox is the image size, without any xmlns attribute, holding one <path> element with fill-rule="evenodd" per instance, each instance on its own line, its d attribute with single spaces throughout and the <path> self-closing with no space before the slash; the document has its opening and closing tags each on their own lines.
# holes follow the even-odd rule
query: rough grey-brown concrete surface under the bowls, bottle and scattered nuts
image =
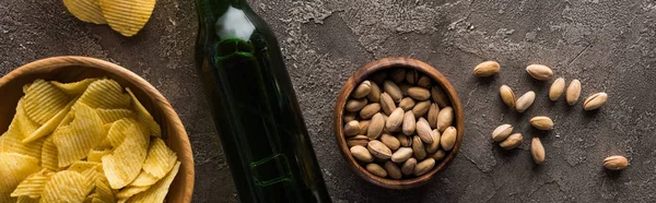
<svg viewBox="0 0 656 203">
<path fill-rule="evenodd" d="M 278 35 L 326 183 L 335 202 L 655 202 L 656 1 L 251 0 Z M 235 202 L 227 165 L 194 68 L 196 13 L 190 0 L 160 0 L 145 28 L 126 38 L 72 17 L 59 0 L 0 1 L 0 75 L 30 61 L 83 55 L 119 63 L 153 83 L 179 112 L 195 151 L 195 202 Z M 341 84 L 368 61 L 409 56 L 452 79 L 465 106 L 461 153 L 418 189 L 391 191 L 361 180 L 336 151 L 331 110 Z M 497 60 L 493 79 L 471 75 Z M 553 68 L 583 96 L 607 92 L 608 104 L 584 112 L 548 100 L 550 83 L 524 71 Z M 503 106 L 502 84 L 538 94 L 519 115 Z M 546 115 L 555 129 L 531 130 Z M 518 150 L 490 139 L 499 124 L 525 134 Z M 542 138 L 547 163 L 531 162 L 529 141 Z M 631 166 L 607 172 L 602 159 Z"/>
</svg>

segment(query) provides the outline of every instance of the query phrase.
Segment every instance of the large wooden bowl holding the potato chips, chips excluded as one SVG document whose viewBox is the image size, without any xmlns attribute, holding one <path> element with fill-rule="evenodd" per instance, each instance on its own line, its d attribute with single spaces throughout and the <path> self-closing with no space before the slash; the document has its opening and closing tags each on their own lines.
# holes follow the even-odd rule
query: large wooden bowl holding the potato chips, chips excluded
<svg viewBox="0 0 656 203">
<path fill-rule="evenodd" d="M 0 132 L 7 131 L 15 114 L 23 85 L 37 79 L 75 82 L 87 77 L 109 77 L 130 87 L 162 126 L 162 136 L 177 153 L 180 170 L 171 184 L 166 202 L 191 202 L 194 157 L 183 122 L 166 98 L 145 80 L 117 64 L 87 57 L 54 57 L 27 63 L 0 79 Z"/>
</svg>

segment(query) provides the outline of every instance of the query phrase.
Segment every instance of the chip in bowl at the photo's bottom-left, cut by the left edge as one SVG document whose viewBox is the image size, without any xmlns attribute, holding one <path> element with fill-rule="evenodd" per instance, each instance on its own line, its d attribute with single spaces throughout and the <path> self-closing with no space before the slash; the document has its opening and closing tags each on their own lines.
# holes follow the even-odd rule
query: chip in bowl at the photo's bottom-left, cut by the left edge
<svg viewBox="0 0 656 203">
<path fill-rule="evenodd" d="M 40 167 L 35 157 L 17 153 L 0 153 L 0 200 L 10 200 L 11 193 L 21 181 L 38 170 Z M 15 199 L 11 200 L 15 201 Z"/>
</svg>

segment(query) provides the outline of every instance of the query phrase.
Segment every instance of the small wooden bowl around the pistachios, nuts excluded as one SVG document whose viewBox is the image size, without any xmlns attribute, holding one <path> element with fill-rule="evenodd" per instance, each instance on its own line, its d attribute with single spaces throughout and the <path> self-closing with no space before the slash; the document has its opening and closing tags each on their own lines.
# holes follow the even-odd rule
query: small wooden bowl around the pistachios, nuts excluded
<svg viewBox="0 0 656 203">
<path fill-rule="evenodd" d="M 343 134 L 343 115 L 344 107 L 351 92 L 364 80 L 367 80 L 371 75 L 378 71 L 384 71 L 386 69 L 393 68 L 406 68 L 417 70 L 431 79 L 434 82 L 440 84 L 444 93 L 450 99 L 452 107 L 454 108 L 455 120 L 454 126 L 457 129 L 457 140 L 454 148 L 450 152 L 447 152 L 446 157 L 444 159 L 438 160 L 431 171 L 409 179 L 388 179 L 380 178 L 378 176 L 373 175 L 367 171 L 363 166 L 361 166 L 355 158 L 351 155 L 351 151 L 347 145 L 347 140 Z M 410 189 L 422 186 L 433 178 L 433 176 L 437 171 L 444 170 L 456 157 L 458 151 L 460 150 L 460 144 L 462 143 L 462 132 L 464 132 L 464 119 L 462 119 L 462 106 L 460 105 L 460 98 L 454 86 L 448 82 L 448 80 L 440 73 L 435 68 L 426 64 L 422 61 L 410 59 L 410 58 L 385 58 L 377 61 L 373 61 L 358 70 L 347 83 L 342 86 L 342 89 L 339 92 L 337 97 L 337 103 L 335 105 L 335 114 L 333 114 L 333 128 L 335 128 L 335 139 L 337 141 L 337 145 L 341 151 L 343 157 L 347 159 L 349 167 L 355 171 L 360 177 L 364 180 L 374 183 L 379 187 L 389 188 L 389 189 Z"/>
</svg>

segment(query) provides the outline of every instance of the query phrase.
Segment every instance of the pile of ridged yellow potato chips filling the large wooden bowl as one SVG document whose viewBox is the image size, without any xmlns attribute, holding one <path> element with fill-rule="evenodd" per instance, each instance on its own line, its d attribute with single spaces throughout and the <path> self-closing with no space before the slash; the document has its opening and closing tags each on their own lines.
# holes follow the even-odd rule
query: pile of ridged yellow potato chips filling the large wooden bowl
<svg viewBox="0 0 656 203">
<path fill-rule="evenodd" d="M 109 79 L 36 80 L 0 135 L 0 202 L 163 202 L 180 163 Z"/>
</svg>

